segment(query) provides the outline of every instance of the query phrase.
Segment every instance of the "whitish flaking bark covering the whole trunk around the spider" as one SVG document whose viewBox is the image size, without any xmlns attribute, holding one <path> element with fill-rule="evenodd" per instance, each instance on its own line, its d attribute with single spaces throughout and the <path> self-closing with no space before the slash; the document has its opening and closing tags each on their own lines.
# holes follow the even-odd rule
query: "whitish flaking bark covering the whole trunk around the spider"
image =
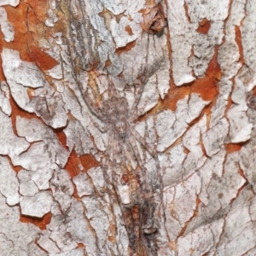
<svg viewBox="0 0 256 256">
<path fill-rule="evenodd" d="M 19 2 L 0 0 L 0 5 L 8 3 Z M 130 184 L 120 182 L 117 186 L 119 202 L 108 194 L 113 187 L 113 183 L 108 183 L 109 177 L 113 174 L 120 178 L 121 170 L 109 168 L 106 172 L 106 167 L 94 167 L 84 172 L 83 166 L 79 166 L 81 172 L 73 178 L 64 170 L 73 149 L 77 154 L 92 154 L 102 161 L 108 146 L 108 134 L 91 124 L 94 119 L 102 125 L 85 104 L 84 90 L 95 85 L 96 90 L 90 90 L 91 99 L 97 103 L 107 99 L 108 76 L 131 108 L 137 78 L 148 79 L 138 105 L 145 105 L 146 113 L 160 103 L 160 98 L 165 98 L 170 73 L 177 86 L 193 84 L 205 76 L 212 56 L 217 54 L 221 79 L 213 106 L 191 90 L 179 98 L 174 111 L 166 109 L 164 99 L 166 110 L 137 120 L 138 133 L 157 149 L 154 153 L 163 175 L 166 222 L 162 220 L 158 227 L 158 254 L 254 256 L 256 119 L 255 109 L 248 109 L 246 100 L 256 81 L 256 52 L 252 44 L 256 1 L 167 0 L 170 38 L 166 29 L 158 35 L 142 35 L 141 10 L 148 3 L 85 0 L 83 9 L 76 9 L 79 3 L 71 3 L 73 17 L 69 27 L 69 37 L 73 37 L 69 46 L 82 57 L 82 68 L 76 70 L 79 72 L 71 65 L 79 58 L 74 52 L 70 54 L 69 43 L 62 40 L 64 32 L 54 33 L 47 42 L 43 40 L 44 51 L 60 63 L 45 73 L 35 64 L 22 61 L 18 51 L 2 52 L 3 72 L 10 88 L 1 82 L 0 246 L 4 255 L 130 256 L 122 218 L 124 208 L 131 204 Z M 49 2 L 46 26 L 55 27 L 57 4 Z M 84 16 L 79 20 L 76 15 Z M 76 19 L 81 22 L 81 29 Z M 196 31 L 202 20 L 210 24 L 207 33 Z M 1 27 L 10 40 L 11 31 L 5 33 L 2 24 Z M 239 30 L 242 48 L 238 45 Z M 78 32 L 84 45 L 79 42 Z M 128 43 L 131 49 L 116 52 Z M 91 73 L 96 76 L 96 84 L 90 84 Z M 80 90 L 78 81 L 83 87 Z M 36 113 L 38 119 L 12 113 L 9 91 L 21 109 Z M 172 91 L 169 94 L 172 96 Z M 211 113 L 204 113 L 207 106 Z M 62 127 L 68 150 L 52 130 Z M 240 143 L 236 145 L 237 152 L 226 150 L 232 149 L 230 143 Z M 154 160 L 140 143 L 137 151 L 146 176 L 153 179 L 157 158 Z M 18 178 L 11 164 L 23 168 Z M 131 157 L 131 167 L 136 166 L 136 158 Z M 136 185 L 133 189 L 137 189 Z M 15 207 L 19 201 L 22 214 L 42 218 L 51 212 L 46 230 L 20 223 L 19 208 Z M 84 247 L 79 247 L 79 243 Z"/>
</svg>

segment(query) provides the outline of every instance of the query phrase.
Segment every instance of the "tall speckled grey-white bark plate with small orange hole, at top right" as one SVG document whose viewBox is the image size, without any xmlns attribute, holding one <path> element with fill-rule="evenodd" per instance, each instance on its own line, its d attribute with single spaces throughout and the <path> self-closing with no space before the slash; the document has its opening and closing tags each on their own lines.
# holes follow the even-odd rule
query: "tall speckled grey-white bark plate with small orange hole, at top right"
<svg viewBox="0 0 256 256">
<path fill-rule="evenodd" d="M 189 0 L 178 3 L 167 1 L 173 79 L 176 85 L 192 82 L 195 79 L 193 72 L 198 77 L 204 77 L 214 54 L 214 47 L 222 43 L 224 19 L 228 15 L 229 4 L 228 0 L 222 1 L 221 4 Z M 207 34 L 196 32 L 203 19 L 211 21 Z"/>
</svg>

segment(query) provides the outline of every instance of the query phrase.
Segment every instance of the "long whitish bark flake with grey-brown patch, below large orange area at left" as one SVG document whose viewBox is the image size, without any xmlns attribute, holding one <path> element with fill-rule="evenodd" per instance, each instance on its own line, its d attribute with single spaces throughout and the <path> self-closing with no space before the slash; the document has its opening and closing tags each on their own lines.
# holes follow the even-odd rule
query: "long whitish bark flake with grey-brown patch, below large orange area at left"
<svg viewBox="0 0 256 256">
<path fill-rule="evenodd" d="M 19 52 L 13 49 L 3 49 L 2 59 L 3 72 L 20 108 L 37 113 L 54 128 L 66 125 L 67 112 L 63 108 L 61 95 L 49 86 L 39 68 L 30 62 L 21 61 Z M 30 87 L 35 89 L 32 99 L 27 91 Z"/>
</svg>

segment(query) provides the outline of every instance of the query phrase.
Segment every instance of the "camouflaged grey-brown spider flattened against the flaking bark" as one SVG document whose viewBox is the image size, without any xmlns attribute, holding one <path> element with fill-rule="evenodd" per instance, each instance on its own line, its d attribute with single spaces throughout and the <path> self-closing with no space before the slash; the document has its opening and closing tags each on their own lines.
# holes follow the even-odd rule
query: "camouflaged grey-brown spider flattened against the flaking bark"
<svg viewBox="0 0 256 256">
<path fill-rule="evenodd" d="M 107 164 L 109 160 L 111 160 L 113 164 L 116 164 L 114 158 L 118 151 L 122 151 L 124 153 L 124 150 L 128 150 L 135 155 L 138 165 L 141 168 L 144 168 L 143 159 L 139 154 L 136 140 L 143 145 L 149 154 L 154 158 L 156 157 L 152 146 L 148 145 L 145 139 L 136 131 L 135 125 L 133 125 L 137 118 L 143 114 L 145 108 L 144 104 L 143 108 L 137 110 L 137 105 L 143 94 L 144 86 L 143 84 L 135 84 L 135 87 L 137 88 L 137 95 L 131 108 L 129 108 L 128 101 L 125 96 L 118 95 L 118 92 L 115 90 L 111 80 L 109 81 L 108 88 L 110 96 L 107 100 L 102 102 L 100 107 L 97 107 L 96 104 L 91 101 L 87 91 L 85 93 L 85 99 L 91 113 L 105 124 L 102 126 L 91 120 L 93 125 L 95 125 L 100 131 L 108 133 L 108 146 L 106 149 Z M 147 103 L 147 101 L 145 103 Z M 123 157 L 125 157 L 125 154 Z"/>
</svg>

